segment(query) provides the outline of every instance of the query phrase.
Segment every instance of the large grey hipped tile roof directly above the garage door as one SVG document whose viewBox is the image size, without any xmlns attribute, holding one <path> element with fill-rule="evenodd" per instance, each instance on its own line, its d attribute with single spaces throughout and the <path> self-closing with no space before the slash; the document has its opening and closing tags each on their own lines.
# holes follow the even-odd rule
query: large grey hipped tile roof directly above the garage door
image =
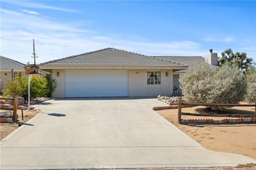
<svg viewBox="0 0 256 170">
<path fill-rule="evenodd" d="M 77 66 L 187 66 L 183 63 L 167 61 L 160 57 L 127 52 L 116 48 L 104 48 L 89 53 L 69 56 L 40 65 Z"/>
</svg>

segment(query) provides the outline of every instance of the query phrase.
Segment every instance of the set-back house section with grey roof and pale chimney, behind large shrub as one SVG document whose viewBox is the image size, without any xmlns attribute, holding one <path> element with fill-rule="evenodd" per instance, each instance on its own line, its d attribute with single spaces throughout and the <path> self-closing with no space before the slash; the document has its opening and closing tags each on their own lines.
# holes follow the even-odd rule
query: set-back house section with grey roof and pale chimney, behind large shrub
<svg viewBox="0 0 256 170">
<path fill-rule="evenodd" d="M 205 55 L 205 57 L 201 57 L 201 56 L 154 56 L 154 57 L 159 57 L 159 58 L 163 58 L 163 60 L 175 61 L 177 63 L 188 65 L 188 69 L 186 70 L 173 72 L 173 88 L 178 88 L 180 93 L 181 93 L 180 82 L 179 82 L 180 74 L 186 73 L 195 65 L 203 64 L 203 63 L 208 63 L 212 67 L 218 67 L 218 53 L 212 53 L 212 49 L 210 49 L 210 54 Z"/>
</svg>

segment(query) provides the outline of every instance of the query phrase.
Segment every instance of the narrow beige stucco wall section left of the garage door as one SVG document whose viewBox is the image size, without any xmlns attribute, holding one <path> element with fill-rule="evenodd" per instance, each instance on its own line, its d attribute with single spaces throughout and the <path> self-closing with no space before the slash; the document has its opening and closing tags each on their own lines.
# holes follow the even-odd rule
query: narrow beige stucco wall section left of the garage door
<svg viewBox="0 0 256 170">
<path fill-rule="evenodd" d="M 59 72 L 59 77 L 57 76 Z M 57 88 L 52 94 L 55 98 L 64 98 L 65 97 L 65 70 L 52 70 L 52 77 L 57 81 Z"/>
</svg>

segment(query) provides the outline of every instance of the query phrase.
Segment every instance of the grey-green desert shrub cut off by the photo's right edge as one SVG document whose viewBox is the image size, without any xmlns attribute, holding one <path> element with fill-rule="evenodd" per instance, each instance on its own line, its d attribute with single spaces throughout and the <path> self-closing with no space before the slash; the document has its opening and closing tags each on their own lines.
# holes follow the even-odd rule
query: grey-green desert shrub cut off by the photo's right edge
<svg viewBox="0 0 256 170">
<path fill-rule="evenodd" d="M 248 103 L 256 103 L 256 68 L 250 67 L 246 73 L 246 96 L 245 99 Z"/>
</svg>

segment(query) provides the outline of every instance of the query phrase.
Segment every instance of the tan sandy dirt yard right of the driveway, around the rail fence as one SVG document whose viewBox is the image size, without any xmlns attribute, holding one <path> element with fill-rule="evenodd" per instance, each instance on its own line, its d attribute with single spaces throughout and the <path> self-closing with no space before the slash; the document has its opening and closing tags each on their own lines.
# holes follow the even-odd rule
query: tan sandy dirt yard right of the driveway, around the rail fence
<svg viewBox="0 0 256 170">
<path fill-rule="evenodd" d="M 156 111 L 167 121 L 177 126 L 189 137 L 196 140 L 204 148 L 213 151 L 231 152 L 256 159 L 256 124 L 220 124 L 220 125 L 193 125 L 179 124 L 178 109 L 166 109 Z M 204 106 L 182 108 L 182 113 L 209 113 Z M 227 113 L 254 114 L 254 107 L 233 107 Z M 223 113 L 221 113 L 223 114 Z M 182 115 L 183 119 L 188 118 L 212 118 L 222 120 L 225 117 L 201 117 Z M 227 117 L 228 118 L 228 117 Z"/>
</svg>

